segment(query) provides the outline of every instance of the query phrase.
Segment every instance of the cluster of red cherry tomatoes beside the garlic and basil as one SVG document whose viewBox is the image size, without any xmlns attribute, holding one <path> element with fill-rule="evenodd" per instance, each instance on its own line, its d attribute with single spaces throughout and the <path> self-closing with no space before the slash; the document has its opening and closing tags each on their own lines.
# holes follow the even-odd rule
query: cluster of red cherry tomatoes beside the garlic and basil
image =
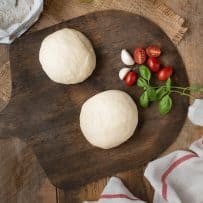
<svg viewBox="0 0 203 203">
<path fill-rule="evenodd" d="M 161 55 L 161 49 L 156 45 L 151 45 L 144 48 L 136 48 L 133 53 L 135 63 L 144 64 L 146 62 L 151 72 L 157 74 L 157 78 L 160 81 L 166 81 L 172 74 L 173 68 L 171 66 L 161 67 L 160 61 L 157 57 Z M 136 83 L 138 75 L 135 71 L 129 71 L 125 78 L 125 84 L 132 86 Z"/>
</svg>

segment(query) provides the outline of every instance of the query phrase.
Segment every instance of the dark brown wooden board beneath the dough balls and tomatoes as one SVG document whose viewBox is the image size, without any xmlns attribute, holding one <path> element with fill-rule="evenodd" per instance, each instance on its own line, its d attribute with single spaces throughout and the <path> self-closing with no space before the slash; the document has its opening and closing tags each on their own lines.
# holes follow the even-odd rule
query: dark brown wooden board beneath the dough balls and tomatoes
<svg viewBox="0 0 203 203">
<path fill-rule="evenodd" d="M 86 34 L 97 55 L 96 70 L 78 85 L 52 82 L 38 60 L 43 38 L 64 27 Z M 138 101 L 140 90 L 126 87 L 118 78 L 123 66 L 120 51 L 150 44 L 161 46 L 161 61 L 174 66 L 174 84 L 188 85 L 182 59 L 166 34 L 128 12 L 96 12 L 21 37 L 10 47 L 13 90 L 9 105 L 0 113 L 0 136 L 18 136 L 31 145 L 52 183 L 65 189 L 146 164 L 178 136 L 187 98 L 174 95 L 173 110 L 165 117 L 159 115 L 156 104 L 146 110 L 138 106 L 135 135 L 111 150 L 95 148 L 84 139 L 79 113 L 85 100 L 107 89 L 124 90 Z"/>
</svg>

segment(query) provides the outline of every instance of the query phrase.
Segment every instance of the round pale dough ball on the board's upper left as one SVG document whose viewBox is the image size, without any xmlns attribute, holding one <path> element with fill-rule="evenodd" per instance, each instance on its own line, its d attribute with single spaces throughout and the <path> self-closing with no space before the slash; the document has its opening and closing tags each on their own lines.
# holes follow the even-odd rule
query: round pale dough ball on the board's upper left
<svg viewBox="0 0 203 203">
<path fill-rule="evenodd" d="M 81 32 L 68 28 L 42 41 L 39 61 L 48 77 L 62 84 L 83 82 L 96 66 L 91 42 Z"/>
</svg>

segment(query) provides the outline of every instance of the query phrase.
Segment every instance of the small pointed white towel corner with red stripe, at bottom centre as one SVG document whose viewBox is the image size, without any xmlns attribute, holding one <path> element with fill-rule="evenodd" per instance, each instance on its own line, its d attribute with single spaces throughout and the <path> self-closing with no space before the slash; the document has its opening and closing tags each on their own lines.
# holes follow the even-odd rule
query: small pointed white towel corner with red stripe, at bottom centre
<svg viewBox="0 0 203 203">
<path fill-rule="evenodd" d="M 145 203 L 135 197 L 119 178 L 111 177 L 98 201 L 83 203 Z"/>
</svg>

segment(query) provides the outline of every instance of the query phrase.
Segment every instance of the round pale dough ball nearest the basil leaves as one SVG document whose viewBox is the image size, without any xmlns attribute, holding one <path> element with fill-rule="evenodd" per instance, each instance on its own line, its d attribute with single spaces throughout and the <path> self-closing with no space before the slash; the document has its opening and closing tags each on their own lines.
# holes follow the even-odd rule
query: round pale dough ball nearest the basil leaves
<svg viewBox="0 0 203 203">
<path fill-rule="evenodd" d="M 88 99 L 80 112 L 80 128 L 94 146 L 109 149 L 129 139 L 138 123 L 137 106 L 125 92 L 108 90 Z"/>
</svg>

